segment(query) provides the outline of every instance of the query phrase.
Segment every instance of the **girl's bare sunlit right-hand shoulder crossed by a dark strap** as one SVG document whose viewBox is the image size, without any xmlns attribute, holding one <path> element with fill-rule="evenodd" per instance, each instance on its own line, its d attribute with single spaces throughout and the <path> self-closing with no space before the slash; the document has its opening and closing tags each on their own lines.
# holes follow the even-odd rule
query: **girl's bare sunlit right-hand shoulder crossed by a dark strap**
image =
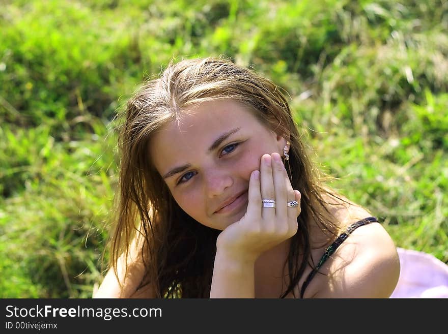
<svg viewBox="0 0 448 334">
<path fill-rule="evenodd" d="M 350 201 L 334 205 L 332 213 L 342 232 L 372 216 Z M 383 298 L 394 291 L 400 263 L 390 235 L 380 223 L 372 222 L 352 230 L 319 272 L 324 275 L 316 275 L 305 297 Z"/>
</svg>

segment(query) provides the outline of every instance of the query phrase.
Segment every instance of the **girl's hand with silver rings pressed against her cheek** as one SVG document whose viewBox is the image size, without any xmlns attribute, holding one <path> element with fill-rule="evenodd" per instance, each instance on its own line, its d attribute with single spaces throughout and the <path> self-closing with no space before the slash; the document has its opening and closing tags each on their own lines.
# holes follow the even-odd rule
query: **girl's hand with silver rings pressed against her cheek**
<svg viewBox="0 0 448 334">
<path fill-rule="evenodd" d="M 249 203 L 240 221 L 223 230 L 217 239 L 220 256 L 242 262 L 255 262 L 265 251 L 297 232 L 300 192 L 293 190 L 278 153 L 261 157 L 260 171 L 249 180 Z M 275 200 L 275 208 L 262 207 L 262 199 Z M 289 207 L 288 202 L 299 202 Z"/>
</svg>

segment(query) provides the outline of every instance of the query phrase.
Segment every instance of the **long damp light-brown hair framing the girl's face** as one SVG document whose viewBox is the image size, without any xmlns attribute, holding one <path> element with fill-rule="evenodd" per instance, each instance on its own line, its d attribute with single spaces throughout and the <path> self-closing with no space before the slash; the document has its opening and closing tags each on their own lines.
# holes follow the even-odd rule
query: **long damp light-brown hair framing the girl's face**
<svg viewBox="0 0 448 334">
<path fill-rule="evenodd" d="M 244 103 L 267 127 L 291 142 L 290 178 L 302 198 L 298 232 L 292 237 L 285 263 L 290 283 L 281 296 L 284 297 L 294 291 L 310 258 L 311 219 L 322 230 L 335 233 L 335 226 L 320 213 L 326 209 L 321 196 L 327 191 L 307 158 L 281 89 L 229 59 L 208 57 L 172 62 L 127 102 L 119 136 L 120 191 L 109 266 L 114 267 L 117 275 L 120 255 L 129 252 L 132 239 L 139 234 L 145 240 L 141 253 L 147 269 L 141 286 L 153 285 L 158 297 L 209 296 L 220 231 L 203 226 L 179 207 L 147 153 L 155 131 L 178 119 L 187 106 L 214 99 Z"/>
</svg>

